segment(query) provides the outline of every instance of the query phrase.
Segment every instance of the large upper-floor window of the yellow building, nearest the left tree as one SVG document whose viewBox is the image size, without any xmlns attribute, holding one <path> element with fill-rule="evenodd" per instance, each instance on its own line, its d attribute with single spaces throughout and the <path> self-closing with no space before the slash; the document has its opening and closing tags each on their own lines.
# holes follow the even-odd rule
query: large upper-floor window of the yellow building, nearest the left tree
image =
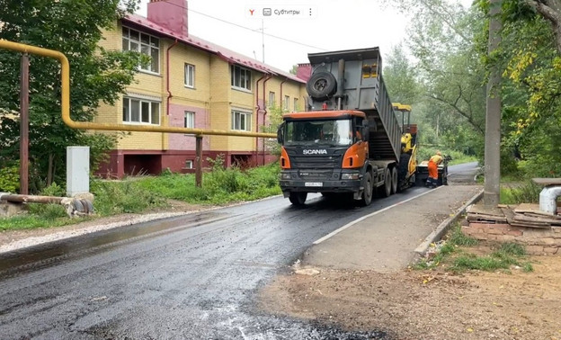
<svg viewBox="0 0 561 340">
<path fill-rule="evenodd" d="M 156 37 L 124 27 L 122 29 L 123 50 L 133 50 L 150 57 L 147 65 L 141 65 L 140 69 L 159 73 L 160 72 L 160 40 Z"/>
</svg>

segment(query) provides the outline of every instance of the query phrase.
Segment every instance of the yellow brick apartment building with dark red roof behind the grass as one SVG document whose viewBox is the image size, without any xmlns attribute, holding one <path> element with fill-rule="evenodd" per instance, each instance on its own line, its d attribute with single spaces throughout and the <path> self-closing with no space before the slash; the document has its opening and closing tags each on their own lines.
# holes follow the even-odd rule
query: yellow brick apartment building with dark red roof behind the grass
<svg viewBox="0 0 561 340">
<path fill-rule="evenodd" d="M 190 35 L 185 0 L 151 0 L 146 18 L 129 15 L 104 37 L 103 48 L 136 50 L 151 61 L 139 68 L 119 103 L 102 105 L 96 121 L 261 131 L 271 107 L 304 109 L 304 80 Z M 263 139 L 204 136 L 203 162 L 220 154 L 226 166 L 274 159 Z M 131 132 L 99 173 L 118 178 L 167 168 L 184 173 L 194 171 L 194 161 L 194 136 Z"/>
</svg>

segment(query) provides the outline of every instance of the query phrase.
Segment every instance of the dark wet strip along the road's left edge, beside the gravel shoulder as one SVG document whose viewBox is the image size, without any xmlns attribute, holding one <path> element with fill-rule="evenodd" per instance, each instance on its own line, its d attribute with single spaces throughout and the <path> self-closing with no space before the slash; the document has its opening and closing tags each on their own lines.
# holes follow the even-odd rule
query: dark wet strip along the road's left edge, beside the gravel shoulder
<svg viewBox="0 0 561 340">
<path fill-rule="evenodd" d="M 58 263 L 69 257 L 100 253 L 147 237 L 156 237 L 186 228 L 227 219 L 231 215 L 208 211 L 172 219 L 160 219 L 137 225 L 111 228 L 79 237 L 71 237 L 0 255 L 0 278 L 15 272 L 28 272 Z"/>
</svg>

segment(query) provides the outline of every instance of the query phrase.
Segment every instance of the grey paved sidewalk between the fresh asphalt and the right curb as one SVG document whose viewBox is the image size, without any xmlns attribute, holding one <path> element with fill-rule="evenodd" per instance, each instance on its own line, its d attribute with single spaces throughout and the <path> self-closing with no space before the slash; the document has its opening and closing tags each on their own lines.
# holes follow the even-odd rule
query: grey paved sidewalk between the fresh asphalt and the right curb
<svg viewBox="0 0 561 340">
<path fill-rule="evenodd" d="M 448 227 L 458 210 L 481 192 L 480 185 L 452 184 L 438 187 L 414 200 L 366 219 L 327 239 L 320 239 L 303 256 L 302 267 L 393 272 L 411 264 L 415 249 Z M 444 223 L 443 223 L 444 222 Z M 439 228 L 440 227 L 440 228 Z"/>
</svg>

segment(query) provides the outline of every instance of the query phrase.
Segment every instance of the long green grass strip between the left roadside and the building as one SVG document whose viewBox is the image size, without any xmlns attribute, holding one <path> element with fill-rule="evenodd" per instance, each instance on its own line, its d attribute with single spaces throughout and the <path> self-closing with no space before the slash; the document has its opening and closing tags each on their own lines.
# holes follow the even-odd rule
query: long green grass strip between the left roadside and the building
<svg viewBox="0 0 561 340">
<path fill-rule="evenodd" d="M 194 174 L 129 177 L 123 181 L 93 179 L 90 192 L 94 193 L 96 216 L 104 217 L 121 213 L 142 213 L 164 209 L 168 200 L 192 204 L 222 205 L 237 201 L 254 201 L 280 194 L 278 164 L 248 169 L 225 168 L 223 159 L 211 162 L 212 171 L 203 174 L 202 187 L 195 185 Z M 65 188 L 53 184 L 41 195 L 64 196 Z M 76 224 L 90 218 L 70 219 L 58 204 L 31 203 L 28 213 L 0 219 L 0 231 L 49 228 Z"/>
</svg>

